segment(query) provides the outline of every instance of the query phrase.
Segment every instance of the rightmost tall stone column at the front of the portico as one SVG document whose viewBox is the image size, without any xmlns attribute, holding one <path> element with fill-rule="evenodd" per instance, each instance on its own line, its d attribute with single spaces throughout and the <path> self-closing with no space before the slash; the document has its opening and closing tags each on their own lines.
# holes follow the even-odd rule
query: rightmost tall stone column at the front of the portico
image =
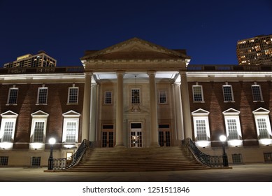
<svg viewBox="0 0 272 196">
<path fill-rule="evenodd" d="M 186 71 L 180 71 L 180 91 L 181 91 L 181 103 L 182 103 L 182 116 L 183 116 L 183 129 L 184 136 L 192 139 L 192 123 L 191 123 L 191 111 L 189 108 L 189 92 L 187 83 Z"/>
</svg>

